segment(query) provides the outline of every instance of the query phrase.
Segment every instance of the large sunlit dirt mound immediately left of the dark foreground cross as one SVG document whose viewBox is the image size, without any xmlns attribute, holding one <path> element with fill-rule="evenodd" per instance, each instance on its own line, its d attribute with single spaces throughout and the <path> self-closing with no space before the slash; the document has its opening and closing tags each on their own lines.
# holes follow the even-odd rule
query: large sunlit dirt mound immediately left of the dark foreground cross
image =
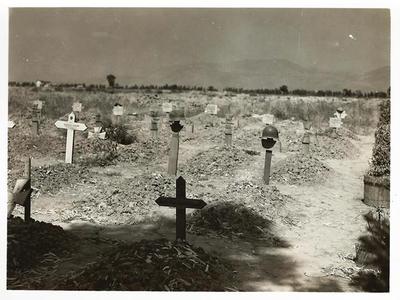
<svg viewBox="0 0 400 300">
<path fill-rule="evenodd" d="M 105 178 L 84 200 L 74 201 L 74 215 L 97 224 L 135 224 L 155 213 L 157 197 L 174 194 L 174 179 L 162 174 Z"/>
</svg>

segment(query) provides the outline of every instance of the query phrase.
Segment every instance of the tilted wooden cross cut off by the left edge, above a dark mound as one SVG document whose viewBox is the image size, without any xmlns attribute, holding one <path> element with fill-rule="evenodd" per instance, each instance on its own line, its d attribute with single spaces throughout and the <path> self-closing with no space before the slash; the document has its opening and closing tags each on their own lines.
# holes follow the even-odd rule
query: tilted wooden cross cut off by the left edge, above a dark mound
<svg viewBox="0 0 400 300">
<path fill-rule="evenodd" d="M 31 158 L 25 162 L 24 177 L 17 179 L 14 190 L 8 193 L 8 212 L 7 218 L 11 214 L 17 204 L 24 207 L 24 220 L 29 222 L 31 219 Z"/>
</svg>

